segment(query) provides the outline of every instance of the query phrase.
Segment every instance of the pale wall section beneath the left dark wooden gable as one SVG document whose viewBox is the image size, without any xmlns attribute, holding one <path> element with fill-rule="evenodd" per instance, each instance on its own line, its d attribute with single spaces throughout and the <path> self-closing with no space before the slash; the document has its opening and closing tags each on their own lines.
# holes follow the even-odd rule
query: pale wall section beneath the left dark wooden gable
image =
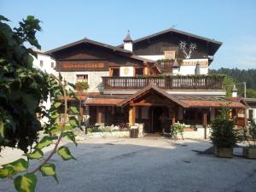
<svg viewBox="0 0 256 192">
<path fill-rule="evenodd" d="M 102 85 L 102 77 L 109 76 L 108 71 L 101 71 L 101 72 L 61 72 L 61 76 L 63 79 L 67 80 L 68 82 L 75 84 L 77 82 L 77 75 L 78 74 L 87 74 L 88 75 L 88 84 L 89 90 L 88 92 L 102 92 L 103 85 Z"/>
</svg>

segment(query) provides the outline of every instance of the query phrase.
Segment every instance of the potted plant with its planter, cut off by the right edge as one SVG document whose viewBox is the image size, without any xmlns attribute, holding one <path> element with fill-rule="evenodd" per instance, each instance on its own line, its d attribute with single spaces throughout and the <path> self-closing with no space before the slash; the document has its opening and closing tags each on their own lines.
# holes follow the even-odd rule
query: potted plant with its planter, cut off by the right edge
<svg viewBox="0 0 256 192">
<path fill-rule="evenodd" d="M 256 124 L 253 119 L 247 127 L 243 128 L 243 135 L 247 147 L 242 148 L 242 155 L 248 159 L 256 159 Z"/>
</svg>

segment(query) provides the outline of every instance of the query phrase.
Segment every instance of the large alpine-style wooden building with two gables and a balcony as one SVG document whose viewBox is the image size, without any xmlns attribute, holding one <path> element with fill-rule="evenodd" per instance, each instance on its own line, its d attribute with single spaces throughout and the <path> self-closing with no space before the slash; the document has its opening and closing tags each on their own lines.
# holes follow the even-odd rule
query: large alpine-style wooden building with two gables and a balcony
<svg viewBox="0 0 256 192">
<path fill-rule="evenodd" d="M 161 115 L 166 131 L 175 122 L 206 127 L 223 105 L 245 124 L 245 103 L 225 96 L 222 76 L 208 75 L 221 44 L 171 28 L 134 41 L 128 32 L 119 46 L 84 38 L 46 54 L 64 79 L 88 82 L 80 97 L 87 124 L 142 123 L 157 132 Z"/>
</svg>

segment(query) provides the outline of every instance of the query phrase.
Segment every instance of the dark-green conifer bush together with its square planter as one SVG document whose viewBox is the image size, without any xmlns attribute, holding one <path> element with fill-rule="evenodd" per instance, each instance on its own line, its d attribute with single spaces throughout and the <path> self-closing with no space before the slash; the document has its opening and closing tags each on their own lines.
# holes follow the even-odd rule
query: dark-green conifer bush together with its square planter
<svg viewBox="0 0 256 192">
<path fill-rule="evenodd" d="M 234 120 L 228 115 L 229 110 L 229 108 L 223 108 L 221 114 L 212 121 L 210 138 L 214 145 L 214 154 L 218 157 L 233 157 L 233 147 L 238 141 Z"/>
</svg>

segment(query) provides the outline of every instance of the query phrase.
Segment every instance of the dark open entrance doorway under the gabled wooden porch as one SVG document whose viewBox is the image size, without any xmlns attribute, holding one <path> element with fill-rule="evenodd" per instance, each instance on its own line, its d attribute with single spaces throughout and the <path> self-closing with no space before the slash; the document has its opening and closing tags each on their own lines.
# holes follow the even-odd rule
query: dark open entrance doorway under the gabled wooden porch
<svg viewBox="0 0 256 192">
<path fill-rule="evenodd" d="M 162 132 L 162 123 L 160 121 L 160 116 L 164 113 L 166 116 L 165 110 L 163 107 L 153 107 L 151 108 L 151 132 Z"/>
</svg>

